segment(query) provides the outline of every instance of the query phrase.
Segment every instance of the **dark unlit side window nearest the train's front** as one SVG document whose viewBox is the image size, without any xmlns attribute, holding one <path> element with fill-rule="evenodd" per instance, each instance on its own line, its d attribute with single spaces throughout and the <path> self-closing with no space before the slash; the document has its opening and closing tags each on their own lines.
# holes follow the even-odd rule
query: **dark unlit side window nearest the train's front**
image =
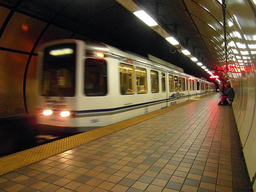
<svg viewBox="0 0 256 192">
<path fill-rule="evenodd" d="M 88 58 L 84 65 L 84 93 L 86 96 L 105 96 L 107 86 L 107 63 L 103 59 Z"/>
</svg>

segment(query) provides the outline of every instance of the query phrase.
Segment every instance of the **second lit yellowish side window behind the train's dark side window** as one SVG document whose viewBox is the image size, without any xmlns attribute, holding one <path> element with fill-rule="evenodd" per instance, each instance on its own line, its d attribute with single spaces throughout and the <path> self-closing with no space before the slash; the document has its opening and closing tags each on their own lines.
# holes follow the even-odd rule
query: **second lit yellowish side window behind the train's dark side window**
<svg viewBox="0 0 256 192">
<path fill-rule="evenodd" d="M 137 93 L 147 93 L 147 73 L 146 69 L 136 67 L 136 84 L 137 84 Z"/>
</svg>

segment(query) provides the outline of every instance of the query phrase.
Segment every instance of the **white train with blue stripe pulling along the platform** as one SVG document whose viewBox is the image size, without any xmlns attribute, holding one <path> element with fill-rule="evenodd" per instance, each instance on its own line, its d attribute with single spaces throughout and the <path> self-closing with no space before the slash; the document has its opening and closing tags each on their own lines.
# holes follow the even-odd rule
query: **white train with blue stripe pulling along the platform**
<svg viewBox="0 0 256 192">
<path fill-rule="evenodd" d="M 215 90 L 154 56 L 98 42 L 49 42 L 38 59 L 37 124 L 61 132 L 84 132 Z"/>
</svg>

